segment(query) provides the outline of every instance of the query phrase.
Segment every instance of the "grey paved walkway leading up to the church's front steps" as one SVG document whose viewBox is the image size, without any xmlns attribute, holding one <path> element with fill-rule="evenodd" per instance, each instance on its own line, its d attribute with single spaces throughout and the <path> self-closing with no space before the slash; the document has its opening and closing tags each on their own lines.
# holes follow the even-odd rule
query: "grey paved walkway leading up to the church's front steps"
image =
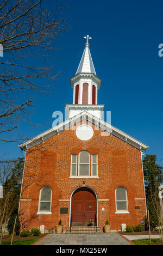
<svg viewBox="0 0 163 256">
<path fill-rule="evenodd" d="M 130 245 L 130 243 L 116 232 L 102 234 L 71 234 L 46 236 L 37 245 Z"/>
</svg>

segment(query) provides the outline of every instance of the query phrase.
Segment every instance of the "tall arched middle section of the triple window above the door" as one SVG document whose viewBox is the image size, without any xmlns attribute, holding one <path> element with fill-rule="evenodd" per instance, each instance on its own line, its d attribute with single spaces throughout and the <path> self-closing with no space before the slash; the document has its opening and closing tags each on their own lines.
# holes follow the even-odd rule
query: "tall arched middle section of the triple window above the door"
<svg viewBox="0 0 163 256">
<path fill-rule="evenodd" d="M 90 176 L 90 153 L 87 151 L 79 153 L 79 176 Z"/>
</svg>

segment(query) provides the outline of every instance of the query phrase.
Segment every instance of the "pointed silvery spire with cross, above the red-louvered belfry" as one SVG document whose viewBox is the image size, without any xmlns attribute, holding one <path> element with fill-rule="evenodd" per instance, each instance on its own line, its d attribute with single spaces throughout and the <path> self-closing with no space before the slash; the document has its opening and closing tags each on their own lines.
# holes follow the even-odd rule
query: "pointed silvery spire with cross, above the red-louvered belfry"
<svg viewBox="0 0 163 256">
<path fill-rule="evenodd" d="M 76 75 L 78 73 L 93 73 L 96 75 L 95 67 L 92 62 L 92 57 L 90 53 L 90 45 L 88 40 L 91 39 L 89 35 L 84 36 L 86 39 L 85 49 L 83 52 L 82 59 L 80 60 Z"/>
</svg>

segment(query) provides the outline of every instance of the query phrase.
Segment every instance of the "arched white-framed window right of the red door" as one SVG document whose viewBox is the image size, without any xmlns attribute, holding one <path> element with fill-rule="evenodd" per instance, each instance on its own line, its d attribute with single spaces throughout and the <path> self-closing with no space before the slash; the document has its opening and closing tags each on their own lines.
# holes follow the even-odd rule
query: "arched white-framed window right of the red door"
<svg viewBox="0 0 163 256">
<path fill-rule="evenodd" d="M 127 190 L 125 187 L 116 188 L 116 211 L 128 211 Z"/>
</svg>

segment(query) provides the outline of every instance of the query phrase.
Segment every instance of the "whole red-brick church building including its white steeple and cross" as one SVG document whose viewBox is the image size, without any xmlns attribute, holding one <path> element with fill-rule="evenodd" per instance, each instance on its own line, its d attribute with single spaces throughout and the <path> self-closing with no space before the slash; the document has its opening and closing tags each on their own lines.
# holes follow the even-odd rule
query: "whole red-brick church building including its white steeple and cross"
<svg viewBox="0 0 163 256">
<path fill-rule="evenodd" d="M 111 230 L 136 225 L 146 215 L 142 153 L 148 146 L 102 119 L 97 104 L 101 79 L 92 62 L 89 36 L 76 75 L 67 120 L 24 142 L 20 197 L 24 229 L 64 229 L 93 220 Z"/>
</svg>

